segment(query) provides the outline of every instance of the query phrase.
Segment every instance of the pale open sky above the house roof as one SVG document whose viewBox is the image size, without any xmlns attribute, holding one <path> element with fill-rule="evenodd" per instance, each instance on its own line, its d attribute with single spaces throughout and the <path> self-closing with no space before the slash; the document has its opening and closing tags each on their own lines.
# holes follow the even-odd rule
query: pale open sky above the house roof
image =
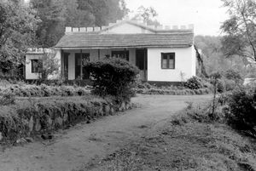
<svg viewBox="0 0 256 171">
<path fill-rule="evenodd" d="M 128 9 L 153 7 L 164 26 L 195 25 L 196 35 L 218 36 L 228 14 L 221 0 L 125 0 Z"/>
</svg>

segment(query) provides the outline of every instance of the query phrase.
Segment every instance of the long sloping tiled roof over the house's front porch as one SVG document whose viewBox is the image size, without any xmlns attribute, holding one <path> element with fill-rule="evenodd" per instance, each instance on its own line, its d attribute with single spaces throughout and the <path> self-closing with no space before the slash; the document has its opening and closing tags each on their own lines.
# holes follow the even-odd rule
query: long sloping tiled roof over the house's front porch
<svg viewBox="0 0 256 171">
<path fill-rule="evenodd" d="M 193 32 L 166 34 L 97 34 L 67 33 L 55 48 L 150 48 L 189 47 L 193 44 Z"/>
</svg>

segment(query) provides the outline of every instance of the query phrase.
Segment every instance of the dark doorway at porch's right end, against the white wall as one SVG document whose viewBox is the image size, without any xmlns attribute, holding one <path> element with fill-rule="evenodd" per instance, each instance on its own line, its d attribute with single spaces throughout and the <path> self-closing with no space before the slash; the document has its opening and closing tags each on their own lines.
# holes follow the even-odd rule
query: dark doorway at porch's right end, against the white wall
<svg viewBox="0 0 256 171">
<path fill-rule="evenodd" d="M 143 81 L 148 79 L 148 50 L 147 49 L 136 49 L 136 66 L 140 70 L 140 78 Z"/>
</svg>

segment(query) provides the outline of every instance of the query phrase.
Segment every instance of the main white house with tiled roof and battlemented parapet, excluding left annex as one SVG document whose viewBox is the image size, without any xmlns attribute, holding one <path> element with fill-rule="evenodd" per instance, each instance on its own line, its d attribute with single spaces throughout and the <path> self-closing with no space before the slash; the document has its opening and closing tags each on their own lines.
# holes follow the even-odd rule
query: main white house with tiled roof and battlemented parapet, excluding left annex
<svg viewBox="0 0 256 171">
<path fill-rule="evenodd" d="M 67 80 L 89 79 L 84 63 L 116 57 L 137 66 L 143 81 L 181 82 L 195 76 L 193 43 L 192 25 L 163 28 L 119 20 L 102 27 L 66 27 L 55 50 Z"/>
</svg>

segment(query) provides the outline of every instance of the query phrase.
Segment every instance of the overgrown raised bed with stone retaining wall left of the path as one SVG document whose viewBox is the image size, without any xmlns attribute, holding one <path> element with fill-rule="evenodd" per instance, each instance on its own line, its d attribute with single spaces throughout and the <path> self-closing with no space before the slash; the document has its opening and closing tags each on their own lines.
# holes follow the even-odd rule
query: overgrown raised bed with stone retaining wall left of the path
<svg viewBox="0 0 256 171">
<path fill-rule="evenodd" d="M 14 105 L 2 105 L 0 142 L 15 143 L 22 138 L 49 134 L 80 122 L 90 123 L 99 117 L 131 108 L 131 102 L 119 104 L 97 96 L 22 98 Z"/>
</svg>

